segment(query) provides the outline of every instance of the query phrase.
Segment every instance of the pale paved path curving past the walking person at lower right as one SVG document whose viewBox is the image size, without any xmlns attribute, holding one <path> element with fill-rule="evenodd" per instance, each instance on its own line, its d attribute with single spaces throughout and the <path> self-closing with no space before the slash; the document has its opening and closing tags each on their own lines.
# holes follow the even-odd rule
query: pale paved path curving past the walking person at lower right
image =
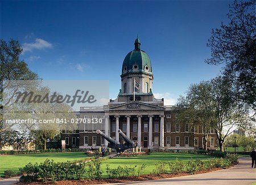
<svg viewBox="0 0 256 185">
<path fill-rule="evenodd" d="M 217 184 L 242 185 L 256 183 L 256 169 L 252 169 L 249 157 L 240 157 L 240 163 L 230 169 L 213 171 L 205 174 L 180 176 L 175 178 L 147 180 L 119 184 Z"/>
</svg>

